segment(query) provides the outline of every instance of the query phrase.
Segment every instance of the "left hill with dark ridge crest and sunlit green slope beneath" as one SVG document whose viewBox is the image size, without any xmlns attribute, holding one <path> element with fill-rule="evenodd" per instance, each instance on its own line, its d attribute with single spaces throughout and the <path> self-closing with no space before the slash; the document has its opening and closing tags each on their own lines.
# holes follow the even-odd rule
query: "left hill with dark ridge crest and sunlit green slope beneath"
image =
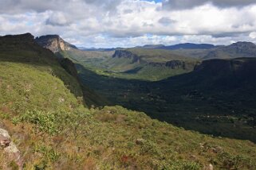
<svg viewBox="0 0 256 170">
<path fill-rule="evenodd" d="M 0 37 L 0 51 L 1 110 L 72 110 L 79 104 L 79 83 L 30 33 Z"/>
</svg>

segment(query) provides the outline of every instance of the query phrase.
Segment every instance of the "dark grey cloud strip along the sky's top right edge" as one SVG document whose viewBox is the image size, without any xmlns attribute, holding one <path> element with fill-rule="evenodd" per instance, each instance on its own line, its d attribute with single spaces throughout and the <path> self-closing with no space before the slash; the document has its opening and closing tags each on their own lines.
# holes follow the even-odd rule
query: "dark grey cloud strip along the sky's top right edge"
<svg viewBox="0 0 256 170">
<path fill-rule="evenodd" d="M 163 0 L 164 9 L 183 10 L 211 3 L 221 8 L 242 7 L 255 4 L 255 0 Z"/>
</svg>

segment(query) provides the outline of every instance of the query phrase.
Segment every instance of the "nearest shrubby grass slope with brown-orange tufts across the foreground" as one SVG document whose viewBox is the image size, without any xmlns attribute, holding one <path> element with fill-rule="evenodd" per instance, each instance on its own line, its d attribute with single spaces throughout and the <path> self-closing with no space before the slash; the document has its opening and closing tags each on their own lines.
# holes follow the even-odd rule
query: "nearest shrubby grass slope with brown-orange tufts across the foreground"
<svg viewBox="0 0 256 170">
<path fill-rule="evenodd" d="M 89 114 L 34 110 L 2 122 L 26 153 L 25 169 L 256 167 L 256 147 L 249 141 L 186 131 L 120 106 Z"/>
</svg>

